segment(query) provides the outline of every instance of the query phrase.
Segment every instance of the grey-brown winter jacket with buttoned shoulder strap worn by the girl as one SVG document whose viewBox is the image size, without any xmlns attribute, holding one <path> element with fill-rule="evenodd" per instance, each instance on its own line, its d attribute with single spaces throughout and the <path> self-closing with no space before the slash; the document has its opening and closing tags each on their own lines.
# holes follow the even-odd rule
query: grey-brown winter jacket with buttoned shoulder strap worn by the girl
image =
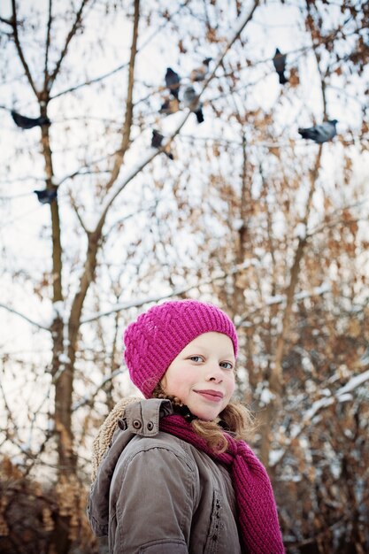
<svg viewBox="0 0 369 554">
<path fill-rule="evenodd" d="M 167 400 L 127 406 L 88 497 L 111 554 L 241 554 L 227 468 L 158 430 Z"/>
</svg>

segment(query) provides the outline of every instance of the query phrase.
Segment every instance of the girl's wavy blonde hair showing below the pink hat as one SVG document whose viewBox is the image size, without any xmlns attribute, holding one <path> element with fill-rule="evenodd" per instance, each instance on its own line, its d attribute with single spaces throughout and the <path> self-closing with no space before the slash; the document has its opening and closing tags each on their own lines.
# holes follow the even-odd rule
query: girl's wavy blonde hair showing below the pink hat
<svg viewBox="0 0 369 554">
<path fill-rule="evenodd" d="M 167 395 L 160 383 L 154 389 L 152 396 L 154 398 L 166 398 L 170 400 L 173 407 L 177 406 L 185 410 L 187 408 L 177 396 Z M 187 410 L 185 418 L 190 421 L 196 435 L 201 436 L 209 448 L 218 453 L 227 450 L 228 442 L 224 431 L 232 435 L 236 441 L 245 441 L 250 439 L 250 435 L 255 430 L 255 419 L 250 409 L 243 406 L 240 402 L 230 402 L 219 413 L 219 417 L 211 421 L 198 419 L 189 410 Z"/>
</svg>

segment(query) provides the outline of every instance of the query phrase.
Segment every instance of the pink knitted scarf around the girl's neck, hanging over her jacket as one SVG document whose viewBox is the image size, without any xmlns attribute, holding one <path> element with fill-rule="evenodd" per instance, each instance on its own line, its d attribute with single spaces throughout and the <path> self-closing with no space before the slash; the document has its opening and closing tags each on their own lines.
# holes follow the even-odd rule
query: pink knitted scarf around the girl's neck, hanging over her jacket
<svg viewBox="0 0 369 554">
<path fill-rule="evenodd" d="M 160 429 L 178 436 L 211 458 L 229 467 L 239 511 L 242 540 L 249 554 L 283 554 L 273 489 L 265 467 L 244 441 L 234 441 L 225 433 L 228 449 L 222 454 L 212 451 L 204 439 L 196 435 L 181 415 L 160 419 Z"/>
</svg>

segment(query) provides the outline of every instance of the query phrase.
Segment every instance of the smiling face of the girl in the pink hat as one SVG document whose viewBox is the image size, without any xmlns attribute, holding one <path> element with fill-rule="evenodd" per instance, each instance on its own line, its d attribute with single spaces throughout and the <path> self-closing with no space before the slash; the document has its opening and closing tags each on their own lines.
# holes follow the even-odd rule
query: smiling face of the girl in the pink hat
<svg viewBox="0 0 369 554">
<path fill-rule="evenodd" d="M 215 419 L 234 392 L 234 347 L 227 335 L 204 333 L 173 359 L 161 381 L 200 419 Z"/>
</svg>

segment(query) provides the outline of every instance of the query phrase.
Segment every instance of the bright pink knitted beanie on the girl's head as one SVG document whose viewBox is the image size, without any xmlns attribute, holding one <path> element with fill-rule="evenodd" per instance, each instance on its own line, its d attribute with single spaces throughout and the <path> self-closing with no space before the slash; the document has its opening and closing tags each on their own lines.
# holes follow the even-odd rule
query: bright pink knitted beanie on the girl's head
<svg viewBox="0 0 369 554">
<path fill-rule="evenodd" d="M 173 359 L 188 342 L 215 331 L 229 336 L 237 356 L 234 324 L 225 312 L 197 300 L 165 302 L 142 313 L 124 334 L 124 358 L 131 380 L 150 398 Z"/>
</svg>

